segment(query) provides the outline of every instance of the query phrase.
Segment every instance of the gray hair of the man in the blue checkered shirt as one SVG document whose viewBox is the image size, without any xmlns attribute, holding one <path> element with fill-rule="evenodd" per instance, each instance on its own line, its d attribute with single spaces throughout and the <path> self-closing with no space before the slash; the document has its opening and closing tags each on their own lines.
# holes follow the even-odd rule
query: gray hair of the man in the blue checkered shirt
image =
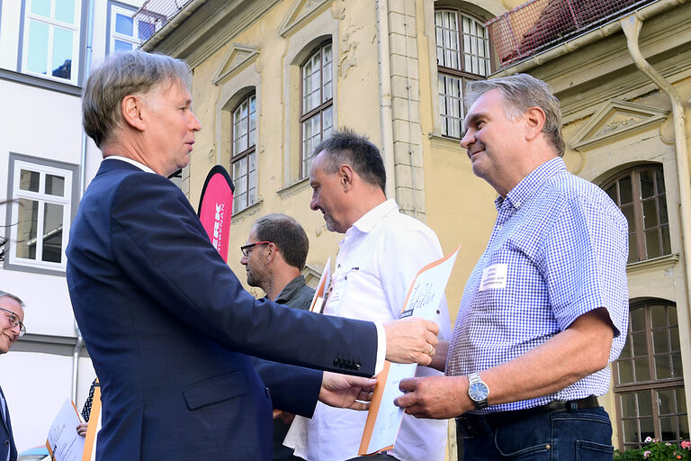
<svg viewBox="0 0 691 461">
<path fill-rule="evenodd" d="M 493 89 L 501 91 L 504 101 L 507 102 L 505 109 L 507 117 L 515 118 L 531 107 L 542 109 L 545 115 L 543 133 L 557 155 L 560 157 L 564 155 L 559 99 L 552 94 L 552 88 L 549 85 L 528 74 L 474 80 L 466 87 L 464 97 L 466 106 L 470 107 L 481 95 Z"/>
</svg>

